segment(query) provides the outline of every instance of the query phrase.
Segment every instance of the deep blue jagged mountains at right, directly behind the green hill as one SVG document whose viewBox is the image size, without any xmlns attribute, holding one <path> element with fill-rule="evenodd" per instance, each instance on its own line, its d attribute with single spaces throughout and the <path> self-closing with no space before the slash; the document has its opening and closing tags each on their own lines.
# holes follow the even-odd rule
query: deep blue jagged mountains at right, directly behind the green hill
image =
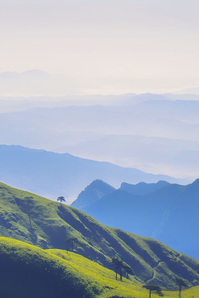
<svg viewBox="0 0 199 298">
<path fill-rule="evenodd" d="M 122 183 L 113 190 L 94 181 L 72 203 L 105 225 L 153 237 L 199 259 L 199 179 L 189 185 Z"/>
</svg>

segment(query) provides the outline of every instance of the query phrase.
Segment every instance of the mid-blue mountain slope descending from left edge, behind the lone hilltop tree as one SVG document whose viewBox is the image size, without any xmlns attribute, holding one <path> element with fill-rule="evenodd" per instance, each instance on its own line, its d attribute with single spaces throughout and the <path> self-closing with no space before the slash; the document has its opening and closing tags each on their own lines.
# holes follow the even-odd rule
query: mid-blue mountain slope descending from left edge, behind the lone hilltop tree
<svg viewBox="0 0 199 298">
<path fill-rule="evenodd" d="M 105 180 L 115 187 L 119 187 L 123 181 L 186 181 L 67 153 L 58 154 L 14 145 L 0 145 L 0 165 L 0 181 L 50 199 L 63 195 L 68 204 L 95 179 Z"/>
</svg>

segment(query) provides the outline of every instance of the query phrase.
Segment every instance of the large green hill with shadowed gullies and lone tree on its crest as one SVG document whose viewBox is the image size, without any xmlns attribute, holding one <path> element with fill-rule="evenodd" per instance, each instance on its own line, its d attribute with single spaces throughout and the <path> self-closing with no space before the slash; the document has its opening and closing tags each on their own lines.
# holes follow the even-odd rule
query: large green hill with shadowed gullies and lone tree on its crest
<svg viewBox="0 0 199 298">
<path fill-rule="evenodd" d="M 74 251 L 110 268 L 118 254 L 139 282 L 152 280 L 174 288 L 175 276 L 199 284 L 199 262 L 150 238 L 104 226 L 86 213 L 0 183 L 0 235 L 49 249 L 66 249 L 75 237 Z M 71 243 L 69 243 L 71 250 Z"/>
</svg>

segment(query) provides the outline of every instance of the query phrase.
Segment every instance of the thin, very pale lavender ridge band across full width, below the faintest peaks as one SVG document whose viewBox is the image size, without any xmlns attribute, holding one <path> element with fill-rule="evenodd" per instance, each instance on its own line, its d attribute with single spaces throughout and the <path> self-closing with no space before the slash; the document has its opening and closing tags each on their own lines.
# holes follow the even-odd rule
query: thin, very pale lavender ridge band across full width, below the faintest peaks
<svg viewBox="0 0 199 298">
<path fill-rule="evenodd" d="M 199 95 L 196 94 L 135 94 L 127 93 L 120 95 L 102 95 L 102 94 L 86 94 L 86 95 L 64 95 L 64 96 L 0 96 L 0 111 L 2 113 L 25 111 L 30 108 L 56 108 L 67 106 L 123 106 L 137 105 L 146 101 L 164 101 L 162 103 L 168 106 L 176 106 L 180 110 L 182 103 L 167 103 L 168 101 L 186 101 L 185 105 L 190 105 L 189 101 L 199 101 Z M 194 103 L 193 103 L 194 105 Z M 196 105 L 196 103 L 195 103 Z M 189 107 L 188 107 L 189 108 Z M 190 109 L 189 108 L 189 109 Z M 160 107 L 159 107 L 160 109 Z M 164 111 L 162 111 L 164 112 Z M 180 111 L 179 111 L 180 112 Z M 164 112 L 165 113 L 165 112 Z M 175 116 L 175 115 L 174 115 Z"/>
</svg>

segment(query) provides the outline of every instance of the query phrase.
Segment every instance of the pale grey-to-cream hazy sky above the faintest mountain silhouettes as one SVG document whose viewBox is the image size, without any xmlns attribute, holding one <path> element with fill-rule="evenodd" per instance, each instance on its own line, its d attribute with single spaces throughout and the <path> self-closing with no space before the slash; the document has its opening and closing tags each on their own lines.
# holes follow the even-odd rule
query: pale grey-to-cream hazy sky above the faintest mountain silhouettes
<svg viewBox="0 0 199 298">
<path fill-rule="evenodd" d="M 0 72 L 199 77 L 198 0 L 0 3 Z"/>
</svg>

